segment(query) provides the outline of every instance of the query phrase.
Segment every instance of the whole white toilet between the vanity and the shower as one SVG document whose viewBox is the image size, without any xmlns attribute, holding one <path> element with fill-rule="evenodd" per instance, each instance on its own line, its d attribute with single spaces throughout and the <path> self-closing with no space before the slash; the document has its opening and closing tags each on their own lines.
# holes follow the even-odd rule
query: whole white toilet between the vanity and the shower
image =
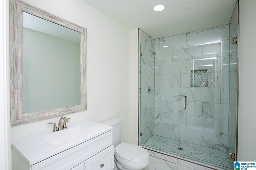
<svg viewBox="0 0 256 170">
<path fill-rule="evenodd" d="M 122 136 L 122 119 L 112 118 L 101 123 L 114 128 L 114 170 L 140 170 L 148 166 L 149 155 L 145 149 L 128 143 L 119 144 Z"/>
</svg>

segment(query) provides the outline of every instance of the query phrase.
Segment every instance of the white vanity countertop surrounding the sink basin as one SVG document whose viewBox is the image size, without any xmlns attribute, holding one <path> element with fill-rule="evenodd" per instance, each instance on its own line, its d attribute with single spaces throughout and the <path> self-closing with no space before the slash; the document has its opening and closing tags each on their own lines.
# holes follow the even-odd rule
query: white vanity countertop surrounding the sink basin
<svg viewBox="0 0 256 170">
<path fill-rule="evenodd" d="M 74 129 L 76 127 L 90 129 L 90 134 L 88 135 L 77 134 L 79 137 L 76 137 L 75 140 L 68 141 L 60 145 L 58 145 L 58 143 L 51 145 L 50 143 L 44 140 L 45 137 L 49 139 L 51 136 L 54 136 L 54 135 L 62 136 L 61 133 L 65 134 L 68 131 L 68 129 L 71 129 L 71 128 Z M 16 149 L 17 152 L 20 153 L 20 155 L 24 158 L 24 160 L 26 160 L 26 162 L 29 165 L 33 165 L 46 158 L 49 158 L 50 156 L 63 152 L 64 150 L 70 149 L 76 145 L 86 142 L 103 133 L 111 131 L 112 129 L 113 127 L 102 125 L 100 123 L 95 123 L 91 121 L 82 121 L 82 122 L 70 124 L 68 125 L 67 129 L 64 129 L 62 131 L 57 131 L 57 132 L 45 131 L 45 132 L 24 137 L 21 139 L 16 139 L 12 141 L 12 147 L 13 149 Z"/>
</svg>

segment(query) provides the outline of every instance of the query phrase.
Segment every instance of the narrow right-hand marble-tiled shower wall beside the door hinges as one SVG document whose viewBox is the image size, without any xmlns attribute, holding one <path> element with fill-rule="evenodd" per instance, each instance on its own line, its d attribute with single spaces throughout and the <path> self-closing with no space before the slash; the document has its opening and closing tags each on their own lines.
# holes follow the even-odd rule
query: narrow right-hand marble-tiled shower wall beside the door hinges
<svg viewBox="0 0 256 170">
<path fill-rule="evenodd" d="M 230 21 L 230 38 L 238 37 L 238 4 L 234 9 Z M 229 119 L 228 119 L 228 152 L 235 153 L 236 145 L 236 94 L 237 94 L 237 68 L 238 68 L 238 44 L 230 44 L 230 88 L 229 88 Z"/>
</svg>

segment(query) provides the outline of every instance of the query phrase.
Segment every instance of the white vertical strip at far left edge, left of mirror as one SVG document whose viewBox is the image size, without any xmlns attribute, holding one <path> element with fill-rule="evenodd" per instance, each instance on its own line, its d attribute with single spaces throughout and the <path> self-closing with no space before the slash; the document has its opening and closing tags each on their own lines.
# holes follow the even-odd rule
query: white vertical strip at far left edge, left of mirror
<svg viewBox="0 0 256 170">
<path fill-rule="evenodd" d="M 0 165 L 11 169 L 10 155 L 10 105 L 9 105 L 9 1 L 0 2 Z"/>
</svg>

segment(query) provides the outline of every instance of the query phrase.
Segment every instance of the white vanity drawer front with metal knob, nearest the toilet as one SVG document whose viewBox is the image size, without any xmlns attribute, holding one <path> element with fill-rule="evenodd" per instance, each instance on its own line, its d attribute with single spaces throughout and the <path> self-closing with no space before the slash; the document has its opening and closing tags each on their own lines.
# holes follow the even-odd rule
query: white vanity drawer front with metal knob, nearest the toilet
<svg viewBox="0 0 256 170">
<path fill-rule="evenodd" d="M 112 170 L 114 168 L 114 147 L 111 145 L 85 162 L 86 170 Z"/>
</svg>

